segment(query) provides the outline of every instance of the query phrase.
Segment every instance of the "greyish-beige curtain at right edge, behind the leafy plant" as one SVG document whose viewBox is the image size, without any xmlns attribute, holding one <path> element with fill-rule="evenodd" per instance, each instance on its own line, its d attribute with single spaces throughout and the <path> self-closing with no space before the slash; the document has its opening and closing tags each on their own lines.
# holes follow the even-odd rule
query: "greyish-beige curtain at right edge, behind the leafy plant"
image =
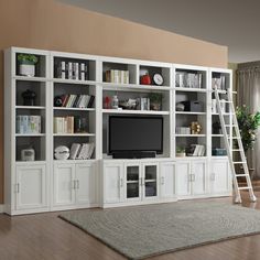
<svg viewBox="0 0 260 260">
<path fill-rule="evenodd" d="M 237 102 L 246 105 L 250 112 L 260 111 L 260 66 L 239 68 L 237 71 Z M 248 164 L 254 169 L 253 177 L 260 178 L 260 131 L 253 150 L 248 151 Z"/>
</svg>

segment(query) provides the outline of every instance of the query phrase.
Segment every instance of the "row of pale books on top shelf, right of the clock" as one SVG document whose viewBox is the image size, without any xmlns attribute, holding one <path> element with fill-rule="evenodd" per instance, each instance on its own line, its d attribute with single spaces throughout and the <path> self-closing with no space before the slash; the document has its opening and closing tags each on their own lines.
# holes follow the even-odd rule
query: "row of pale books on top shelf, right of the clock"
<svg viewBox="0 0 260 260">
<path fill-rule="evenodd" d="M 185 73 L 176 72 L 175 75 L 176 87 L 202 88 L 203 74 L 202 73 Z"/>
</svg>

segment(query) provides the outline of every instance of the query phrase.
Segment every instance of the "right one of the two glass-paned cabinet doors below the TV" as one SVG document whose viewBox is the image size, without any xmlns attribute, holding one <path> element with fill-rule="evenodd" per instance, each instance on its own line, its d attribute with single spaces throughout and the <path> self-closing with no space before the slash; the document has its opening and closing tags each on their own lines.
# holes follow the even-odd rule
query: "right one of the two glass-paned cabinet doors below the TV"
<svg viewBox="0 0 260 260">
<path fill-rule="evenodd" d="M 144 197 L 158 196 L 158 165 L 144 165 Z"/>
</svg>

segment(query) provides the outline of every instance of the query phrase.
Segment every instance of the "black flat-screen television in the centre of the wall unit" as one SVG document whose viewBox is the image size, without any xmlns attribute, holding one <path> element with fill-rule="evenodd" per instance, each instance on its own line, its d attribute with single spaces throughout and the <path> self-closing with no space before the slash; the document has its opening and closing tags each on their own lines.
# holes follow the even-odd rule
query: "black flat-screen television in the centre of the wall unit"
<svg viewBox="0 0 260 260">
<path fill-rule="evenodd" d="M 109 117 L 109 154 L 126 151 L 163 151 L 163 117 Z"/>
</svg>

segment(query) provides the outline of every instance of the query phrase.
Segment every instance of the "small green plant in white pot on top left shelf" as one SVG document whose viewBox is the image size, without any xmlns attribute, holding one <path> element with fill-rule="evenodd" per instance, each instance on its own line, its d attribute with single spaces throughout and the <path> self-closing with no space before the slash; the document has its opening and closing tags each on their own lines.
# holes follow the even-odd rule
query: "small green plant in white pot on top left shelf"
<svg viewBox="0 0 260 260">
<path fill-rule="evenodd" d="M 35 76 L 35 64 L 37 63 L 37 57 L 33 54 L 18 55 L 19 62 L 19 74 L 22 76 L 34 77 Z"/>
</svg>

